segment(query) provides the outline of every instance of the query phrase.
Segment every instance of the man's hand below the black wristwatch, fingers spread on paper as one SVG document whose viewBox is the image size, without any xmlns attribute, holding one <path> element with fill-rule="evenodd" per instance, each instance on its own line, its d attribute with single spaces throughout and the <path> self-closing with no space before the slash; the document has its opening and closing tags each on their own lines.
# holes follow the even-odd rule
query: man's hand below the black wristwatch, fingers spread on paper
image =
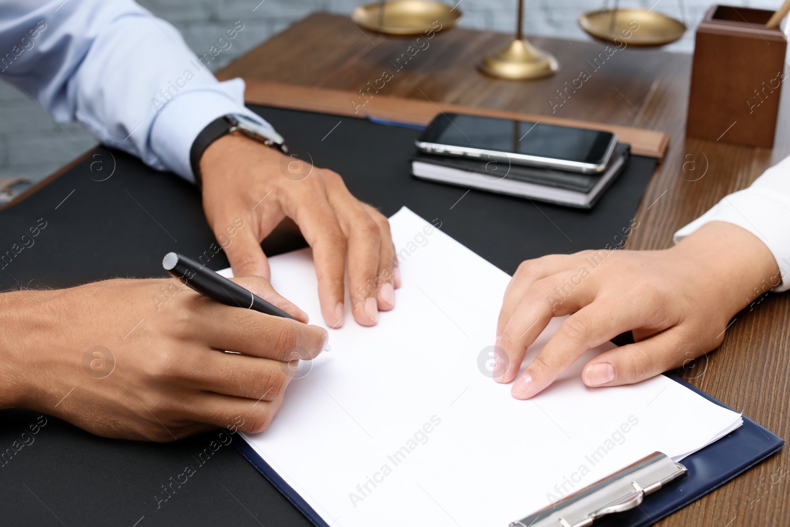
<svg viewBox="0 0 790 527">
<path fill-rule="evenodd" d="M 240 134 L 214 141 L 200 162 L 203 208 L 224 246 L 236 277 L 269 279 L 261 241 L 287 216 L 313 248 L 318 296 L 327 325 L 343 323 L 344 274 L 356 322 L 373 326 L 378 311 L 395 305 L 400 285 L 389 222 L 378 210 L 352 196 L 335 172 L 285 156 Z"/>
</svg>

